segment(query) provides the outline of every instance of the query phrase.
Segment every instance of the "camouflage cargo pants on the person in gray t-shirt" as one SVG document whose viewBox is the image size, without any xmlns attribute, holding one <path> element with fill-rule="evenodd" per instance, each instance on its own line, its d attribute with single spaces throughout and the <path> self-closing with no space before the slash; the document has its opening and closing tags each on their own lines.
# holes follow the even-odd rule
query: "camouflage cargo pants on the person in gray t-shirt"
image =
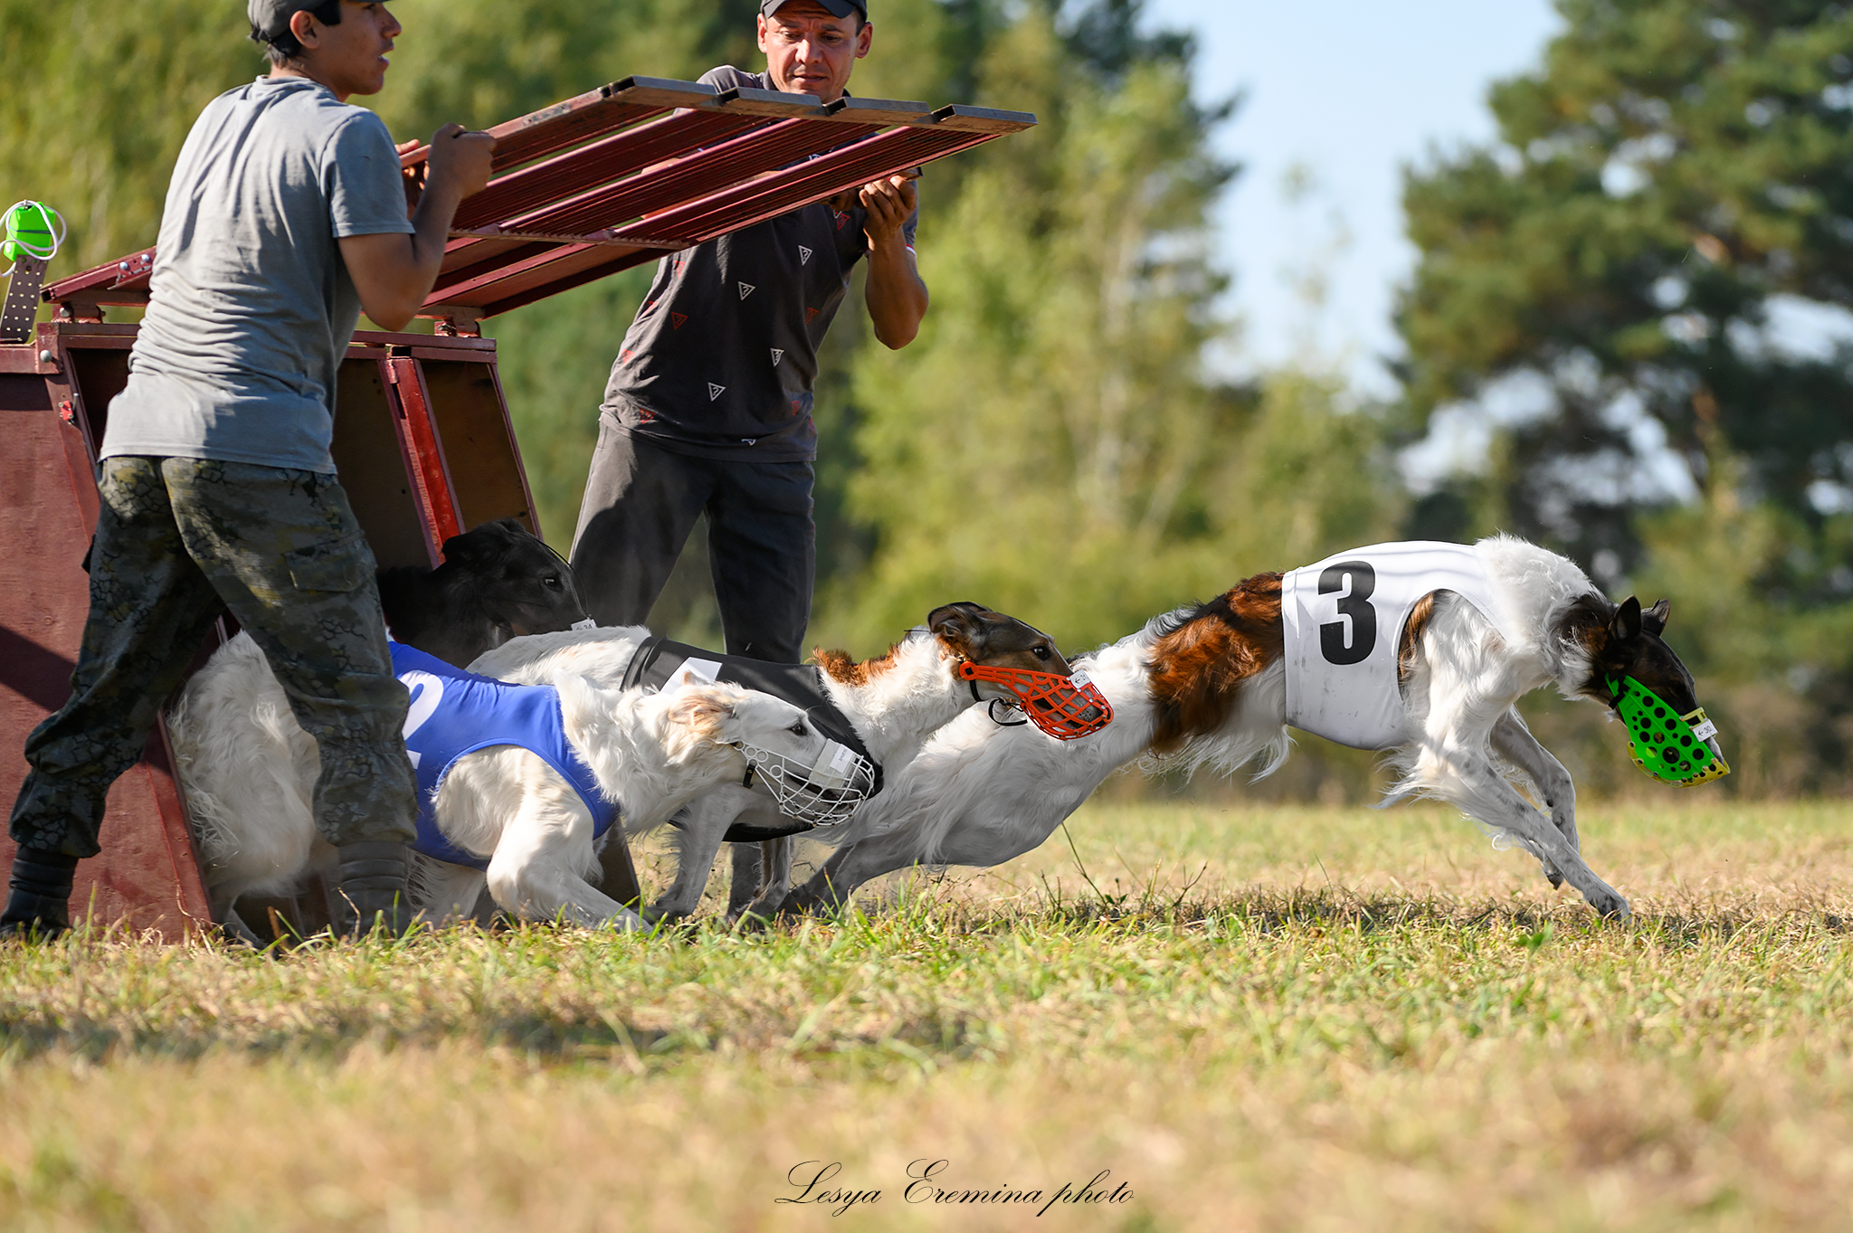
<svg viewBox="0 0 1853 1233">
<path fill-rule="evenodd" d="M 9 833 L 96 855 L 109 785 L 141 757 L 224 602 L 321 748 L 315 824 L 334 844 L 413 837 L 372 552 L 334 476 L 189 457 L 107 457 L 91 613 L 70 700 L 26 739 Z"/>
</svg>

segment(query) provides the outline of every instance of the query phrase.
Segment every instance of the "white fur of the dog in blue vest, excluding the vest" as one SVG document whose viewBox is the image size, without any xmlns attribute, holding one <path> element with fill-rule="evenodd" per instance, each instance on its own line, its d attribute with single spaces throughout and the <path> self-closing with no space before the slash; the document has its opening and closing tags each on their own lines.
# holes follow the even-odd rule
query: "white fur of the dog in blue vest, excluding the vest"
<svg viewBox="0 0 1853 1233">
<path fill-rule="evenodd" d="M 673 694 L 600 689 L 573 676 L 550 681 L 561 726 L 624 822 L 658 826 L 689 800 L 747 772 L 739 744 L 810 765 L 825 741 L 804 713 L 732 685 Z M 187 683 L 169 716 L 215 915 L 239 894 L 289 892 L 332 861 L 309 798 L 319 774 L 304 733 L 263 652 L 248 637 L 226 642 Z M 536 754 L 491 746 L 465 754 L 443 778 L 437 829 L 487 872 L 421 861 L 415 905 L 432 916 L 469 915 L 487 881 L 508 913 L 639 928 L 641 918 L 586 881 L 597 868 L 593 816 L 573 787 Z"/>
</svg>

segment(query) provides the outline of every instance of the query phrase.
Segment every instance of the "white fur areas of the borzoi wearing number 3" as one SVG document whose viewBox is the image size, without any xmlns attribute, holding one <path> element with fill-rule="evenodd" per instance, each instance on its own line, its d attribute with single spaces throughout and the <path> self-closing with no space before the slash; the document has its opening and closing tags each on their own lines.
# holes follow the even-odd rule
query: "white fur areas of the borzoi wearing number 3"
<svg viewBox="0 0 1853 1233">
<path fill-rule="evenodd" d="M 1594 585 L 1571 561 L 1512 537 L 1475 544 L 1501 605 L 1501 637 L 1468 602 L 1443 592 L 1416 646 L 1403 692 L 1410 739 L 1392 750 L 1401 779 L 1388 800 L 1445 800 L 1499 837 L 1536 855 L 1603 913 L 1627 915 L 1623 900 L 1577 850 L 1569 774 L 1525 729 L 1514 704 L 1555 681 L 1575 698 L 1588 678 L 1586 652 L 1553 635 L 1558 618 Z M 991 866 L 1041 844 L 1099 783 L 1145 754 L 1154 735 L 1151 654 L 1164 620 L 1082 657 L 1114 704 L 1114 722 L 1082 741 L 1060 742 L 1034 728 L 995 728 L 967 713 L 854 818 L 843 846 L 791 900 L 839 905 L 863 881 L 910 865 Z M 1186 744 L 1188 765 L 1236 770 L 1262 759 L 1271 774 L 1290 746 L 1286 676 L 1277 661 L 1247 678 L 1225 724 Z M 1495 759 L 1523 772 L 1545 800 L 1542 815 Z M 1388 802 L 1386 802 L 1388 803 Z"/>
</svg>

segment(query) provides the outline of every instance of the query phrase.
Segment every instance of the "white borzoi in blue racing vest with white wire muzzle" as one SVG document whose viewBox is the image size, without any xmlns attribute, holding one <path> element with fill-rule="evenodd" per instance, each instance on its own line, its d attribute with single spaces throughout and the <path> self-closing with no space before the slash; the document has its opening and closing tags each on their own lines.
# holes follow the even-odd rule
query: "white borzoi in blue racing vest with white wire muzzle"
<svg viewBox="0 0 1853 1233">
<path fill-rule="evenodd" d="M 825 752 L 799 707 L 734 685 L 674 692 L 600 689 L 576 676 L 513 687 L 395 646 L 411 691 L 408 746 L 419 770 L 421 863 L 413 907 L 467 916 L 487 881 L 526 920 L 641 928 L 597 890 L 597 841 L 619 820 L 660 826 L 749 766 L 789 776 Z M 309 796 L 313 741 L 259 715 L 282 687 L 250 641 L 232 641 L 195 678 L 170 722 L 208 892 L 230 920 L 241 894 L 287 894 L 326 866 Z"/>
</svg>

